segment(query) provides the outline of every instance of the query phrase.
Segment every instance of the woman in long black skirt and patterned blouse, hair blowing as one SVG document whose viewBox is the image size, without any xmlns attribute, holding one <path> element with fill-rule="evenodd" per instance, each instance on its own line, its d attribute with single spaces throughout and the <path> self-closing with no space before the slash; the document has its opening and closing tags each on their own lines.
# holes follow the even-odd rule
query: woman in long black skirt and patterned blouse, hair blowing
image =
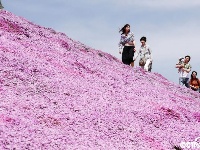
<svg viewBox="0 0 200 150">
<path fill-rule="evenodd" d="M 126 65 L 134 67 L 133 56 L 135 52 L 135 40 L 134 34 L 130 32 L 130 25 L 124 25 L 119 32 L 122 32 L 119 42 L 119 48 L 123 47 L 122 62 Z M 121 54 L 121 51 L 119 53 Z"/>
</svg>

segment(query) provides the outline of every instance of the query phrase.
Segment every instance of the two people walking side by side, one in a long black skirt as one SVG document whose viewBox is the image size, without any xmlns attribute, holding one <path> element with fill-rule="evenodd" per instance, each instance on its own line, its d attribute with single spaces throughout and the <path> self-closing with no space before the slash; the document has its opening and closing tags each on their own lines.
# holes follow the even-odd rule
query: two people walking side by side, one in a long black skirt
<svg viewBox="0 0 200 150">
<path fill-rule="evenodd" d="M 130 32 L 130 25 L 126 24 L 120 29 L 121 38 L 119 42 L 119 53 L 122 53 L 122 62 L 126 65 L 134 67 L 134 61 L 140 55 L 139 66 L 146 71 L 151 71 L 152 69 L 152 51 L 149 45 L 146 44 L 147 38 L 141 37 L 141 47 L 136 53 L 135 49 L 135 39 L 134 34 Z M 135 57 L 134 57 L 135 55 Z"/>
</svg>

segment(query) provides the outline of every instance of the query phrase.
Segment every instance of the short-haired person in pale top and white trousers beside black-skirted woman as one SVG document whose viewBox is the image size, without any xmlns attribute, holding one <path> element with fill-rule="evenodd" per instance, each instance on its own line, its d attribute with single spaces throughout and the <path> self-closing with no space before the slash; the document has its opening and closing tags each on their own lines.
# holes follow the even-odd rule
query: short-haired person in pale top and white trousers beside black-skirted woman
<svg viewBox="0 0 200 150">
<path fill-rule="evenodd" d="M 139 66 L 141 66 L 144 70 L 151 72 L 152 62 L 153 62 L 152 51 L 150 49 L 150 46 L 146 44 L 146 41 L 147 41 L 146 37 L 144 36 L 141 37 L 140 39 L 141 47 L 138 52 L 138 55 L 140 55 Z"/>
</svg>

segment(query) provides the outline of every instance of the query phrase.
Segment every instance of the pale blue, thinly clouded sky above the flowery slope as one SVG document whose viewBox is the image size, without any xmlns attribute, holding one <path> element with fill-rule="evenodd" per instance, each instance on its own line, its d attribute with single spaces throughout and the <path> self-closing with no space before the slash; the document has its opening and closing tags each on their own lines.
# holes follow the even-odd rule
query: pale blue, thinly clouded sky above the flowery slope
<svg viewBox="0 0 200 150">
<path fill-rule="evenodd" d="M 190 55 L 200 77 L 199 0 L 1 0 L 5 10 L 121 59 L 119 27 L 129 23 L 153 51 L 153 70 L 178 83 L 175 64 Z M 136 65 L 138 66 L 138 60 Z"/>
</svg>

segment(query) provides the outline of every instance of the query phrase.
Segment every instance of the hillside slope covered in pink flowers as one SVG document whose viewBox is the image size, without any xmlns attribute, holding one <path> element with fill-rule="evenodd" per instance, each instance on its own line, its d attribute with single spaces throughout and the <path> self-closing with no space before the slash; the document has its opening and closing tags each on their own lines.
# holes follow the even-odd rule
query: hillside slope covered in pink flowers
<svg viewBox="0 0 200 150">
<path fill-rule="evenodd" d="M 200 136 L 200 96 L 0 11 L 0 149 L 168 150 Z"/>
</svg>

